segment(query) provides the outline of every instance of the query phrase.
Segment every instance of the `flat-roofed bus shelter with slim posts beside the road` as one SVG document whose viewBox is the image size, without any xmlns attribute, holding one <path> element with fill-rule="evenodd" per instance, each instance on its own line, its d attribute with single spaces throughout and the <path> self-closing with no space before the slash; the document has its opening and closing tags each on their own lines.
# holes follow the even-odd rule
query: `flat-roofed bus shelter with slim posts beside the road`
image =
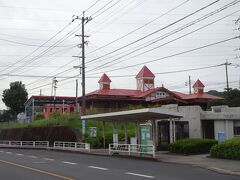
<svg viewBox="0 0 240 180">
<path fill-rule="evenodd" d="M 141 143 L 141 138 L 143 135 L 141 135 L 140 126 L 142 124 L 149 124 L 151 125 L 151 142 L 156 147 L 157 145 L 157 128 L 156 128 L 156 121 L 162 120 L 162 119 L 168 119 L 170 122 L 175 122 L 176 120 L 179 120 L 182 117 L 181 113 L 175 112 L 175 111 L 169 111 L 166 109 L 161 108 L 144 108 L 144 109 L 137 109 L 137 110 L 129 110 L 129 111 L 119 111 L 119 112 L 111 112 L 111 113 L 102 113 L 102 114 L 94 114 L 94 115 L 85 115 L 82 116 L 82 120 L 96 120 L 101 121 L 103 125 L 103 141 L 104 141 L 104 147 L 105 147 L 105 122 L 112 122 L 113 123 L 113 143 L 118 143 L 116 140 L 114 140 L 114 136 L 116 136 L 117 133 L 117 123 L 125 122 L 125 144 L 127 144 L 127 123 L 133 122 L 136 124 L 136 143 Z M 171 126 L 171 134 L 172 139 L 174 141 L 175 139 L 175 126 L 173 123 L 173 126 Z M 149 135 L 148 135 L 149 136 Z M 173 142 L 172 141 L 172 142 Z"/>
</svg>

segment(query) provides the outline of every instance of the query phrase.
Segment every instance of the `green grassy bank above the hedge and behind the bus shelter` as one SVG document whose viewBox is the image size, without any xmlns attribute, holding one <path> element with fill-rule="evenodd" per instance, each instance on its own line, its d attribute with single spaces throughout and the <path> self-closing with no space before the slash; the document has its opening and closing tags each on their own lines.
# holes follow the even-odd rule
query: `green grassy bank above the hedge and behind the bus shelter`
<svg viewBox="0 0 240 180">
<path fill-rule="evenodd" d="M 19 124 L 16 122 L 11 122 L 10 124 L 2 124 L 1 128 L 31 128 L 31 127 L 46 127 L 46 126 L 70 126 L 76 129 L 80 134 L 82 134 L 82 120 L 79 115 L 76 114 L 69 114 L 69 115 L 62 115 L 60 113 L 54 113 L 52 114 L 48 119 L 42 119 L 42 120 L 35 120 L 31 123 L 27 124 Z M 117 123 L 117 129 L 118 129 L 118 136 L 119 141 L 124 141 L 124 129 L 125 129 L 125 122 L 119 122 Z M 97 137 L 89 137 L 89 130 L 90 127 L 96 127 L 97 128 Z M 127 135 L 128 140 L 130 137 L 135 136 L 135 124 L 134 123 L 128 123 L 127 124 Z M 113 134 L 113 123 L 112 122 L 106 122 L 105 123 L 105 137 L 106 141 L 108 143 L 112 143 L 112 135 Z M 96 147 L 102 147 L 103 140 L 103 125 L 101 121 L 92 121 L 88 120 L 86 122 L 86 142 L 94 142 L 97 144 Z"/>
</svg>

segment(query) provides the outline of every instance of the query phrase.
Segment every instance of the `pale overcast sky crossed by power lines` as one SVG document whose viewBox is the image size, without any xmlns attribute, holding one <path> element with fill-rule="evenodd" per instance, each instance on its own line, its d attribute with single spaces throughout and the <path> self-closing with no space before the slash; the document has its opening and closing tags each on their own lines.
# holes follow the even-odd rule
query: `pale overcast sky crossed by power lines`
<svg viewBox="0 0 240 180">
<path fill-rule="evenodd" d="M 86 93 L 99 88 L 103 73 L 111 88 L 136 89 L 135 76 L 144 65 L 156 75 L 155 87 L 188 93 L 190 76 L 192 83 L 200 79 L 205 91 L 223 91 L 226 61 L 230 87 L 239 88 L 238 2 L 0 0 L 1 95 L 14 81 L 25 84 L 29 97 L 40 91 L 51 95 L 56 76 L 56 95 L 75 96 L 81 76 L 73 66 L 81 66 L 81 59 L 73 56 L 81 55 L 76 35 L 83 11 L 91 19 L 84 26 Z M 81 87 L 78 91 L 81 95 Z M 0 109 L 6 109 L 2 101 Z"/>
</svg>

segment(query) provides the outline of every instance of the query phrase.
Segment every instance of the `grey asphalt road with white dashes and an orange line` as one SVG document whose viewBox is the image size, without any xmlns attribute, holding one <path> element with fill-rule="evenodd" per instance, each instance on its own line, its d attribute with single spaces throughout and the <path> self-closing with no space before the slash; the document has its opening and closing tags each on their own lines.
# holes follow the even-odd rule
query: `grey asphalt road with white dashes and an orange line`
<svg viewBox="0 0 240 180">
<path fill-rule="evenodd" d="M 1 180 L 239 180 L 199 167 L 47 150 L 0 149 Z"/>
</svg>

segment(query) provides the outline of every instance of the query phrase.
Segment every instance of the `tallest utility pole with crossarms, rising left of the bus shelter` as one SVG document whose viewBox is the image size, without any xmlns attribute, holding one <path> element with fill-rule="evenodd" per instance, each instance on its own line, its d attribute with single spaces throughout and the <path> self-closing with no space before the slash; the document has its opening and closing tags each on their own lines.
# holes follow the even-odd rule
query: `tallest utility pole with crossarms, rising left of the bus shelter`
<svg viewBox="0 0 240 180">
<path fill-rule="evenodd" d="M 85 24 L 87 24 L 89 21 L 92 20 L 91 17 L 85 17 L 85 12 L 83 12 L 83 16 L 80 18 L 79 16 L 73 16 L 74 20 L 75 19 L 80 19 L 81 24 L 82 24 L 82 34 L 81 35 L 76 35 L 76 36 L 81 36 L 81 45 L 80 48 L 82 49 L 82 66 L 79 67 L 82 70 L 82 111 L 81 114 L 85 114 L 85 108 L 86 108 L 86 97 L 85 97 L 85 44 L 87 43 L 85 41 Z"/>
</svg>

